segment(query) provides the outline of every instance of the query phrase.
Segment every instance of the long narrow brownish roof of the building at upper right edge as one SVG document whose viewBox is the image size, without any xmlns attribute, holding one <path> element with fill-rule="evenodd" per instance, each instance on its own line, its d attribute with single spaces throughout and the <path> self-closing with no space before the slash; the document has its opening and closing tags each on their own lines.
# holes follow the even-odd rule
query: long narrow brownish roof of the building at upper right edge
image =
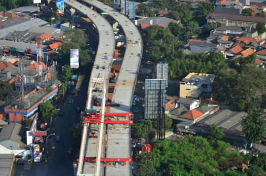
<svg viewBox="0 0 266 176">
<path fill-rule="evenodd" d="M 205 19 L 227 19 L 227 20 L 234 20 L 234 21 L 244 21 L 244 22 L 266 22 L 265 17 L 254 17 L 254 16 L 243 16 L 243 15 L 231 15 L 231 14 L 224 14 L 224 13 L 209 13 Z"/>
</svg>

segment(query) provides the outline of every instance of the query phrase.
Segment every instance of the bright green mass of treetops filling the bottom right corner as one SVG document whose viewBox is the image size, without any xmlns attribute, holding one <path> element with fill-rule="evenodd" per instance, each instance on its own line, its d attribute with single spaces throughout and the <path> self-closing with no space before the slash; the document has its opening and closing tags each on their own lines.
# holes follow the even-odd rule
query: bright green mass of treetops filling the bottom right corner
<svg viewBox="0 0 266 176">
<path fill-rule="evenodd" d="M 156 141 L 153 151 L 137 155 L 139 176 L 262 176 L 265 175 L 266 156 L 252 156 L 230 150 L 230 144 L 219 139 L 224 135 L 212 127 L 208 140 L 199 136 Z M 232 166 L 249 165 L 245 174 L 232 171 Z"/>
</svg>

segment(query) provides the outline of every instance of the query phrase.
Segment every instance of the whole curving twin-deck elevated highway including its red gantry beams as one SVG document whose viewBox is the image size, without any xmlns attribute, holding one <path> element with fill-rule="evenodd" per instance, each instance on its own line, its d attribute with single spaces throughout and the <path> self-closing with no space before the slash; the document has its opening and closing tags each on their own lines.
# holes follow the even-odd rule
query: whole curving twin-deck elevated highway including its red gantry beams
<svg viewBox="0 0 266 176">
<path fill-rule="evenodd" d="M 75 174 L 131 176 L 131 105 L 142 55 L 141 34 L 128 17 L 98 0 L 65 3 L 90 18 L 99 34 Z M 101 14 L 117 22 L 126 36 L 122 59 L 114 59 L 115 33 Z"/>
</svg>

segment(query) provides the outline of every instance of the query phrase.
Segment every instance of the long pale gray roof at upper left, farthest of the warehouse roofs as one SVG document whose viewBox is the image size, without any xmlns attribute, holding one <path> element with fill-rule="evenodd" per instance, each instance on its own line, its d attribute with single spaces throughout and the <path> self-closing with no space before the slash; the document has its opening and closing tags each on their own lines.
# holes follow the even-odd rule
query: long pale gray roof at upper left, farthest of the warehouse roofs
<svg viewBox="0 0 266 176">
<path fill-rule="evenodd" d="M 16 18 L 18 19 L 18 18 Z M 14 20 L 16 20 L 14 19 Z M 21 23 L 14 23 L 12 26 L 10 27 L 6 27 L 6 28 L 0 28 L 0 38 L 5 37 L 6 35 L 8 35 L 11 32 L 14 31 L 26 31 L 31 29 L 34 26 L 43 26 L 48 24 L 48 22 L 39 19 L 39 18 L 35 18 L 32 20 L 27 20 Z"/>
</svg>

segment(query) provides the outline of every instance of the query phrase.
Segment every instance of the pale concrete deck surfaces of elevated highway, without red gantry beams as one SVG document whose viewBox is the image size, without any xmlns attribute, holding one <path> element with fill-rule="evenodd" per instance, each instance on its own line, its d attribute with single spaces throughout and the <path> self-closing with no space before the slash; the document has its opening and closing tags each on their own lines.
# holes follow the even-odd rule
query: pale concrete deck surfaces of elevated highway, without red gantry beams
<svg viewBox="0 0 266 176">
<path fill-rule="evenodd" d="M 130 19 L 121 14 L 119 11 L 111 8 L 110 6 L 98 1 L 98 0 L 82 0 L 91 4 L 92 6 L 107 12 L 113 19 L 115 19 L 123 28 L 123 31 L 127 38 L 126 51 L 123 58 L 121 70 L 118 75 L 118 79 L 115 85 L 112 104 L 119 104 L 120 106 L 111 106 L 110 112 L 130 112 L 132 97 L 134 92 L 134 86 L 137 78 L 137 72 L 141 61 L 142 55 L 142 38 L 138 29 L 132 23 Z M 105 85 L 108 85 L 110 66 L 112 63 L 112 57 L 114 53 L 115 41 L 113 29 L 110 24 L 101 17 L 96 11 L 91 8 L 75 1 L 66 0 L 66 4 L 72 6 L 76 10 L 80 11 L 83 15 L 89 17 L 96 25 L 99 31 L 99 46 L 92 70 L 91 79 L 95 77 L 103 77 L 105 79 Z M 108 60 L 104 60 L 104 56 L 108 57 Z M 97 70 L 96 66 L 100 68 L 105 66 L 105 70 Z M 100 76 L 99 76 L 100 75 Z M 88 94 L 90 94 L 88 90 Z M 90 108 L 90 100 L 88 97 L 86 107 Z M 87 126 L 85 125 L 85 130 Z M 83 129 L 83 136 L 87 134 Z M 123 125 L 115 125 L 114 131 L 107 131 L 107 158 L 131 158 L 131 133 L 130 128 Z M 119 141 L 119 142 L 117 142 Z M 87 143 L 87 142 L 86 142 Z M 119 144 L 117 144 L 119 143 Z M 85 143 L 81 143 L 81 146 Z M 80 150 L 79 161 L 82 161 L 83 154 L 86 155 L 86 151 Z M 80 165 L 80 163 L 79 163 Z M 81 166 L 82 167 L 82 166 Z M 107 176 L 130 176 L 131 165 L 115 166 L 107 165 Z M 79 169 L 78 169 L 79 170 Z M 79 170 L 80 171 L 80 170 Z M 81 172 L 78 172 L 80 174 Z M 88 173 L 82 169 L 82 174 Z M 100 174 L 101 175 L 101 174 Z"/>
</svg>

